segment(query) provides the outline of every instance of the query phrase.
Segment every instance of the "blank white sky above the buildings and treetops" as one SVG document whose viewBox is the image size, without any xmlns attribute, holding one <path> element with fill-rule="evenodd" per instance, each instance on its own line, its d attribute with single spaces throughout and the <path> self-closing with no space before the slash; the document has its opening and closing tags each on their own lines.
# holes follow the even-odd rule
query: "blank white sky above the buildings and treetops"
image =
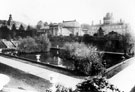
<svg viewBox="0 0 135 92">
<path fill-rule="evenodd" d="M 98 24 L 107 12 L 114 21 L 120 19 L 135 26 L 135 0 L 0 0 L 0 19 L 36 25 L 38 21 L 62 22 L 77 20 L 80 24 Z"/>
</svg>

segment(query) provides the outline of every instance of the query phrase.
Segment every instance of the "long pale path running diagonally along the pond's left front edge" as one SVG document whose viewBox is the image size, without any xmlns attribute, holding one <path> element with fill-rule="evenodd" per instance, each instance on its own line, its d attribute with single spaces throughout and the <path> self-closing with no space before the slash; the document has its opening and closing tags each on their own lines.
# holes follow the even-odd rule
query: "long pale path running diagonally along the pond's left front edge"
<svg viewBox="0 0 135 92">
<path fill-rule="evenodd" d="M 5 58 L 2 56 L 0 56 L 0 63 L 22 70 L 26 73 L 35 75 L 37 77 L 49 80 L 53 84 L 61 84 L 73 89 L 76 87 L 76 84 L 82 81 L 82 79 L 67 76 L 61 73 L 57 73 L 51 70 L 47 70 L 28 63 L 19 62 L 17 60 Z"/>
</svg>

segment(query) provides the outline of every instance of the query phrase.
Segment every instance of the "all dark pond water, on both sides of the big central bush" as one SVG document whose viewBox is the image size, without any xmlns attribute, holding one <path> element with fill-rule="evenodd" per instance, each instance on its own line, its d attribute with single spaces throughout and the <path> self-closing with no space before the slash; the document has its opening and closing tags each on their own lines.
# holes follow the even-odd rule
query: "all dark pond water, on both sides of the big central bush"
<svg viewBox="0 0 135 92">
<path fill-rule="evenodd" d="M 41 62 L 57 67 L 62 67 L 69 70 L 74 70 L 74 61 L 67 60 L 59 57 L 60 52 L 58 50 L 51 50 L 49 53 L 36 53 L 36 54 L 20 54 L 19 57 L 33 60 L 33 62 Z M 122 61 L 122 55 L 104 54 L 103 61 L 105 61 L 105 67 L 109 68 Z M 103 62 L 104 63 L 104 62 Z"/>
</svg>

